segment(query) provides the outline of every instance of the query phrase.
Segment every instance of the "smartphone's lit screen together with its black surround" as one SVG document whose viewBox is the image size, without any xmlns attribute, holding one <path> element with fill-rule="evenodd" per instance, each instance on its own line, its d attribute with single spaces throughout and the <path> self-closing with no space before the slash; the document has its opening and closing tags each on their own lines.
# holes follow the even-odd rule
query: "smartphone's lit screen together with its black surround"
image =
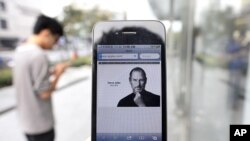
<svg viewBox="0 0 250 141">
<path fill-rule="evenodd" d="M 165 47 L 157 34 L 152 33 L 154 38 L 148 32 L 138 27 L 113 30 L 95 45 L 97 141 L 164 138 Z"/>
</svg>

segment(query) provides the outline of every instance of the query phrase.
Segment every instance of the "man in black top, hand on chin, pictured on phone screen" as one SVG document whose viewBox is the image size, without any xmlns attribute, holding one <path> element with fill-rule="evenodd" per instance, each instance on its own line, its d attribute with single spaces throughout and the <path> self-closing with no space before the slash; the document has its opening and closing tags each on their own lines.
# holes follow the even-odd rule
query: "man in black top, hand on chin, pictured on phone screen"
<svg viewBox="0 0 250 141">
<path fill-rule="evenodd" d="M 118 107 L 159 107 L 160 96 L 145 90 L 147 76 L 145 71 L 136 67 L 130 71 L 129 82 L 133 93 L 121 99 Z"/>
</svg>

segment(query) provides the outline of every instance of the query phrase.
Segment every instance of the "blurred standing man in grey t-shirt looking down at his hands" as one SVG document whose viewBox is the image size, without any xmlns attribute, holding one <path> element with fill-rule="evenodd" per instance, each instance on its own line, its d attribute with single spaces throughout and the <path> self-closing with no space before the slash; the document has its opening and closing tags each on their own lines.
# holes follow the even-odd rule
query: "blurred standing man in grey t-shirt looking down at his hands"
<svg viewBox="0 0 250 141">
<path fill-rule="evenodd" d="M 13 73 L 18 117 L 28 141 L 54 140 L 51 96 L 68 65 L 58 64 L 50 71 L 45 50 L 52 49 L 62 35 L 59 22 L 41 15 L 35 23 L 33 35 L 15 52 Z"/>
</svg>

